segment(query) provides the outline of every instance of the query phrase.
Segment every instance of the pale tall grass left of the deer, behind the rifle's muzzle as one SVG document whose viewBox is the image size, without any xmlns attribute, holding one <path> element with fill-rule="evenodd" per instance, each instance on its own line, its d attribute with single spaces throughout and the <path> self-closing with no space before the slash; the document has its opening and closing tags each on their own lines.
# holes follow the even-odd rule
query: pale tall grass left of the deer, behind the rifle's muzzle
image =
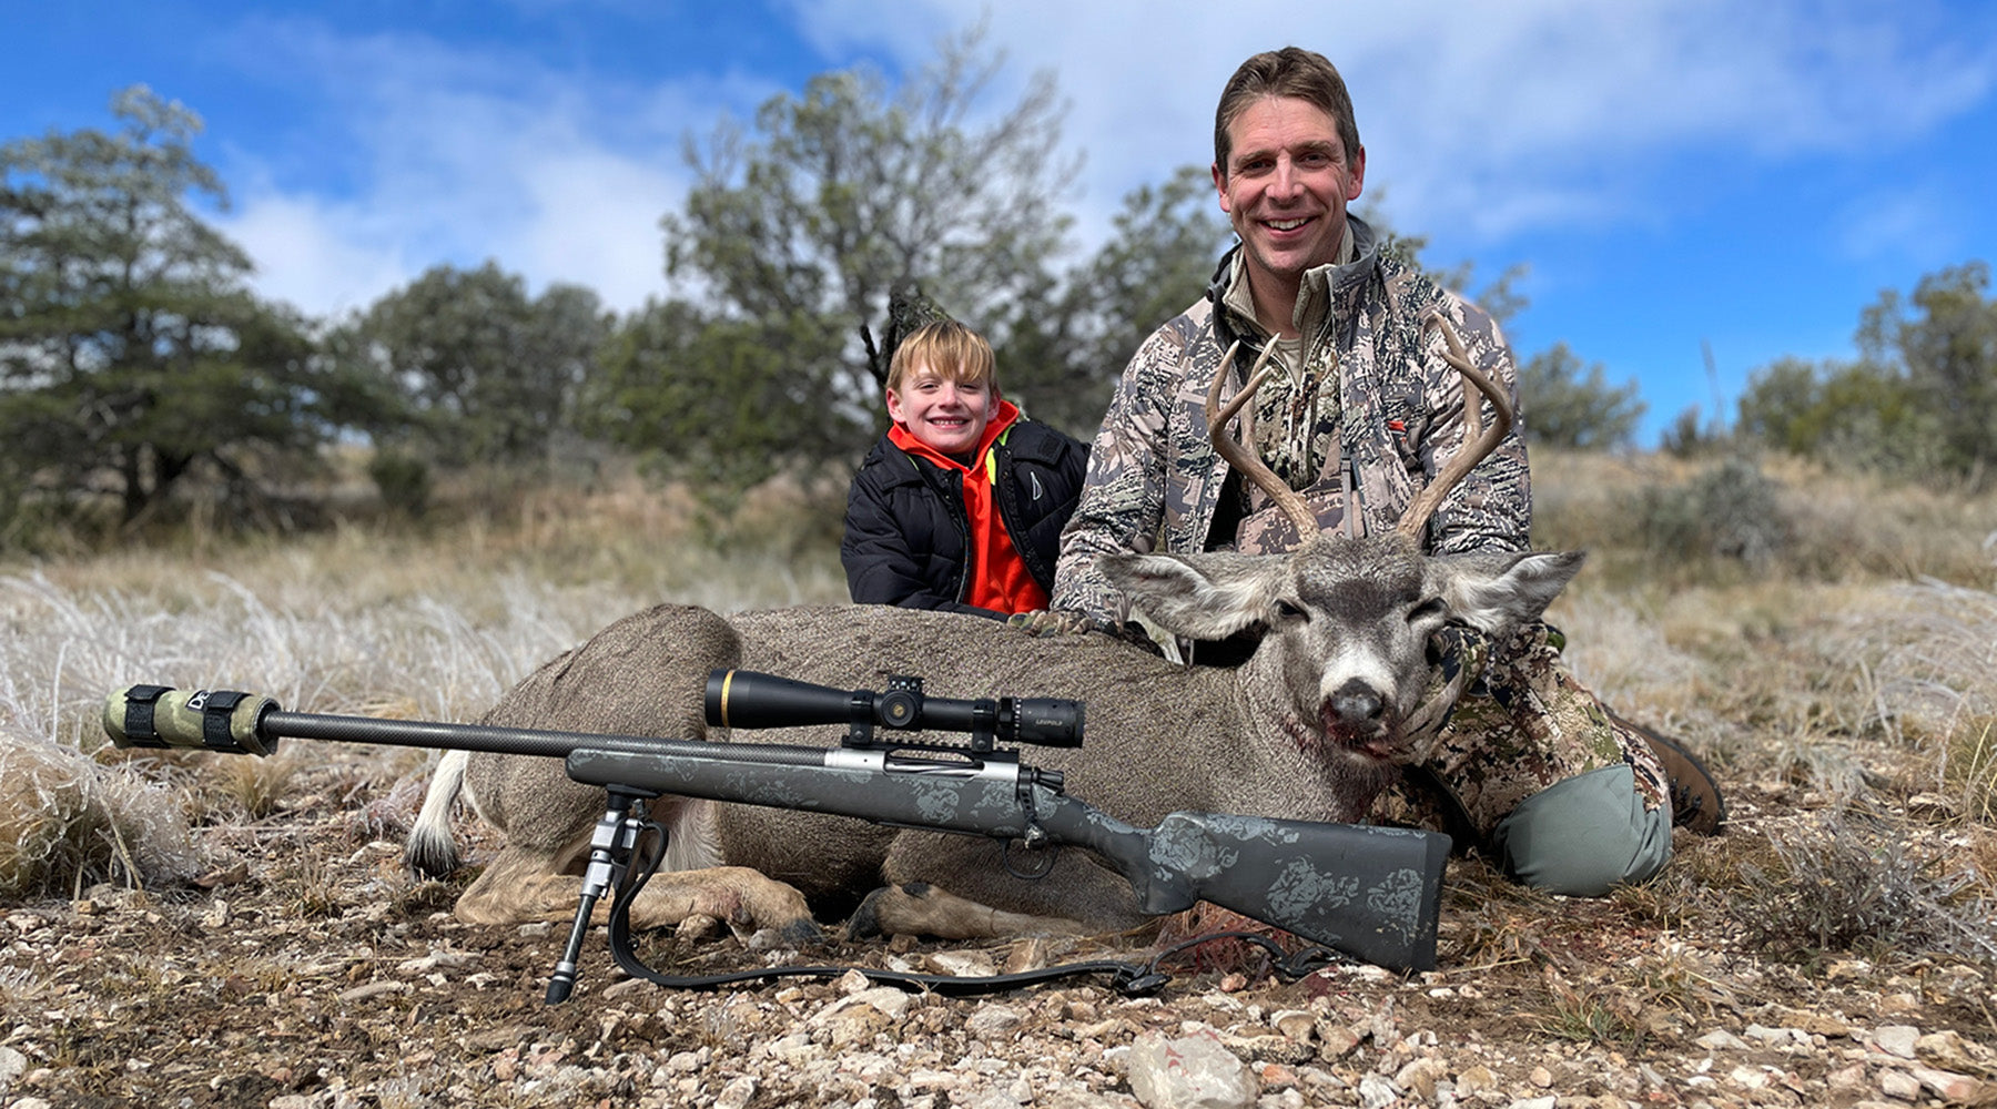
<svg viewBox="0 0 1997 1109">
<path fill-rule="evenodd" d="M 262 816 L 300 758 L 116 752 L 102 704 L 148 682 L 286 708 L 469 720 L 617 616 L 845 600 L 839 505 L 765 491 L 727 529 L 671 493 L 533 489 L 505 523 L 341 527 L 290 541 L 182 537 L 0 564 L 0 896 L 194 874 L 190 814 Z"/>
</svg>

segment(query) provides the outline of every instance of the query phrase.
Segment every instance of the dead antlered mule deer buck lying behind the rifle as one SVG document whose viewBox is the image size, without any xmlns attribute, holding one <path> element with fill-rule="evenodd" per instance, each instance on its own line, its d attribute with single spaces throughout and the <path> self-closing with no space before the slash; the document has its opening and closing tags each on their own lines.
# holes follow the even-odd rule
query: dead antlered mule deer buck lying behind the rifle
<svg viewBox="0 0 1997 1109">
<path fill-rule="evenodd" d="M 1406 726 L 1430 684 L 1430 632 L 1448 620 L 1504 636 L 1536 620 L 1580 568 L 1578 553 L 1426 556 L 1420 535 L 1442 497 L 1490 455 L 1512 425 L 1506 395 L 1464 355 L 1440 317 L 1448 361 L 1496 407 L 1476 443 L 1444 469 L 1388 535 L 1318 533 L 1316 519 L 1224 425 L 1266 375 L 1264 355 L 1232 403 L 1206 397 L 1222 457 L 1268 491 L 1312 537 L 1290 554 L 1114 554 L 1106 572 L 1164 630 L 1224 638 L 1266 634 L 1238 668 L 1182 668 L 1116 636 L 1034 638 L 1000 622 L 891 606 L 781 608 L 721 616 L 661 604 L 601 630 L 507 692 L 487 724 L 569 728 L 727 742 L 703 718 L 715 668 L 781 674 L 835 688 L 881 688 L 917 674 L 937 696 L 1054 696 L 1088 702 L 1088 744 L 1046 752 L 1068 792 L 1118 820 L 1148 826 L 1174 810 L 1284 820 L 1360 820 L 1398 766 L 1426 754 Z M 1232 351 L 1228 361 L 1232 365 Z M 757 732 L 767 736 L 767 732 Z M 833 742 L 773 736 L 781 742 Z M 445 756 L 409 836 L 411 866 L 457 866 L 449 812 L 463 790 L 505 832 L 505 846 L 457 902 L 471 924 L 567 920 L 589 834 L 603 812 L 547 758 Z M 1018 878 L 989 840 L 879 828 L 849 818 L 653 802 L 669 830 L 667 870 L 633 906 L 635 927 L 705 918 L 815 935 L 811 902 L 877 890 L 855 931 L 937 937 L 1112 931 L 1142 922 L 1128 884 L 1060 852 L 1036 880 Z"/>
</svg>

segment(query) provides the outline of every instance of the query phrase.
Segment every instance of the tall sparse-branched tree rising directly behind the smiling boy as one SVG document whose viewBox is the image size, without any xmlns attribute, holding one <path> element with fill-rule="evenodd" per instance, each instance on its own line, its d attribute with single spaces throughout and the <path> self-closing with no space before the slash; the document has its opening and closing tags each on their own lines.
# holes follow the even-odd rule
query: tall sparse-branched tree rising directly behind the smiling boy
<svg viewBox="0 0 1997 1109">
<path fill-rule="evenodd" d="M 811 429 L 785 439 L 793 455 L 857 455 L 881 419 L 859 329 L 883 317 L 893 285 L 915 283 L 1004 341 L 991 333 L 1002 305 L 1038 287 L 1062 243 L 1052 199 L 1066 168 L 1048 76 L 973 122 L 1002 64 L 977 54 L 975 34 L 943 44 L 899 96 L 871 70 L 821 74 L 803 96 L 765 102 L 753 132 L 723 126 L 705 148 L 689 144 L 699 180 L 661 221 L 665 269 L 699 295 L 703 327 L 727 327 L 679 351 L 699 355 L 673 367 L 685 389 L 741 391 L 741 363 L 767 363 L 783 375 L 761 391 L 769 425 Z M 745 441 L 721 439 L 721 425 L 683 431 L 647 445 L 717 457 Z"/>
</svg>

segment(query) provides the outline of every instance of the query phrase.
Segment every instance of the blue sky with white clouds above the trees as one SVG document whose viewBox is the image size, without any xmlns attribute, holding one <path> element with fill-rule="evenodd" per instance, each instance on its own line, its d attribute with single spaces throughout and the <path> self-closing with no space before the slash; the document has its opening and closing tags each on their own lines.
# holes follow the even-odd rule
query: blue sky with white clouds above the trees
<svg viewBox="0 0 1997 1109">
<path fill-rule="evenodd" d="M 108 126 L 144 82 L 196 110 L 218 219 L 272 297 L 328 315 L 493 257 L 613 307 L 663 293 L 685 136 L 823 70 L 915 72 L 987 20 L 987 104 L 1052 72 L 1082 245 L 1212 158 L 1256 50 L 1352 86 L 1366 199 L 1436 263 L 1528 263 L 1522 357 L 1566 341 L 1650 403 L 1731 409 L 1781 355 L 1849 357 L 1881 289 L 1997 261 L 1997 4 L 1809 0 L 0 0 L 0 138 Z M 1717 381 L 1701 359 L 1709 343 Z"/>
</svg>

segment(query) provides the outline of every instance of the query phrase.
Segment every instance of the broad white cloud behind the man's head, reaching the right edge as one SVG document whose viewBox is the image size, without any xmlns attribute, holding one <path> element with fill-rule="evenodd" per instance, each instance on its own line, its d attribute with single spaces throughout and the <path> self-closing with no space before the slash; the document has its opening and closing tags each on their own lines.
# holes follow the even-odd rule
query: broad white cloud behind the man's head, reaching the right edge
<svg viewBox="0 0 1997 1109">
<path fill-rule="evenodd" d="M 931 0 L 869 18 L 867 0 L 801 18 L 833 48 L 919 64 L 915 28 L 989 18 L 1018 76 L 1058 70 L 1068 142 L 1088 152 L 1082 227 L 1166 170 L 1212 158 L 1234 66 L 1284 44 L 1324 52 L 1354 90 L 1370 184 L 1396 223 L 1496 239 L 1576 221 L 1644 221 L 1671 189 L 1737 162 L 1865 154 L 1919 136 L 1997 84 L 1991 10 L 1917 2 L 1454 0 L 1138 4 Z M 1660 166 L 1709 160 L 1707 182 Z"/>
</svg>

